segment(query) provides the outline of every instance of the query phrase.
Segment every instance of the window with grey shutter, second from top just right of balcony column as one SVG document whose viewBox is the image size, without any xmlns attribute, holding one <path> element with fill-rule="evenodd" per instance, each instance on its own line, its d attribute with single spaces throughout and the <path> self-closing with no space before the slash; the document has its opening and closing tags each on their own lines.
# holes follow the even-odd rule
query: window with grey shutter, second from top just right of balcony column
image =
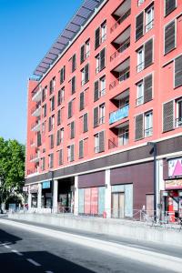
<svg viewBox="0 0 182 273">
<path fill-rule="evenodd" d="M 153 63 L 153 39 L 148 40 L 145 45 L 137 50 L 137 73 Z"/>
</svg>

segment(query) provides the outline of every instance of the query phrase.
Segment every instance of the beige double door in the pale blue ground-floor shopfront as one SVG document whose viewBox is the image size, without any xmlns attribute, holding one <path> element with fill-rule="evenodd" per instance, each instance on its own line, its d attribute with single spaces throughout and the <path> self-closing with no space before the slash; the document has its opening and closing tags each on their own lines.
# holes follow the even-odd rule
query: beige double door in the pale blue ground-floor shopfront
<svg viewBox="0 0 182 273">
<path fill-rule="evenodd" d="M 112 194 L 112 217 L 123 218 L 125 216 L 125 193 Z"/>
</svg>

